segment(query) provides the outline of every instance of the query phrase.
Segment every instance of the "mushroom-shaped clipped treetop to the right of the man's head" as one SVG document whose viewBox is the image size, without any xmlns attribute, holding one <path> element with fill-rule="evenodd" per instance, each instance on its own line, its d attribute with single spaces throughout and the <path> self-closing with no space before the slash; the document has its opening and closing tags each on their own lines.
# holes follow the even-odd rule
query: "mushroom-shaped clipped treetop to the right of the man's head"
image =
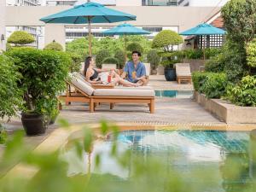
<svg viewBox="0 0 256 192">
<path fill-rule="evenodd" d="M 171 30 L 163 30 L 159 32 L 153 39 L 152 48 L 161 49 L 164 52 L 173 50 L 173 45 L 183 43 L 183 38 Z"/>
</svg>

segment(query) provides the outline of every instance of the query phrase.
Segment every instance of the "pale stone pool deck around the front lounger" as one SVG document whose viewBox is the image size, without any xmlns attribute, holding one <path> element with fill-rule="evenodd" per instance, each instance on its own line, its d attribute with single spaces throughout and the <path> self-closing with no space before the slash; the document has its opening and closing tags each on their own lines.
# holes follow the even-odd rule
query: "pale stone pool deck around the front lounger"
<svg viewBox="0 0 256 192">
<path fill-rule="evenodd" d="M 177 82 L 167 82 L 164 76 L 150 76 L 150 85 L 154 90 L 193 90 L 191 84 L 177 84 Z M 157 97 L 155 100 L 155 113 L 151 114 L 146 105 L 115 105 L 113 110 L 109 105 L 101 104 L 96 108 L 95 113 L 89 113 L 87 104 L 72 104 L 64 107 L 59 115 L 59 119 L 67 119 L 70 124 L 97 123 L 101 119 L 122 123 L 124 125 L 163 125 L 177 126 L 180 128 L 194 126 L 220 127 L 227 126 L 219 121 L 211 113 L 208 113 L 191 98 L 167 98 Z M 7 131 L 23 129 L 19 118 L 12 119 L 5 124 Z M 50 125 L 44 136 L 26 137 L 26 143 L 37 146 L 42 143 L 58 125 Z M 234 127 L 238 129 L 251 130 L 256 125 L 229 125 L 230 130 Z M 1 148 L 0 148 L 1 154 Z"/>
</svg>

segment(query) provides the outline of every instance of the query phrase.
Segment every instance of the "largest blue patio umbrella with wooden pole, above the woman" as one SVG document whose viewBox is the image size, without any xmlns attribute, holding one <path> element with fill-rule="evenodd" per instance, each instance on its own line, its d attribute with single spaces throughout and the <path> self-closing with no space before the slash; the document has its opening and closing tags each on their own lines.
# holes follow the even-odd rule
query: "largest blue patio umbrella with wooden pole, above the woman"
<svg viewBox="0 0 256 192">
<path fill-rule="evenodd" d="M 91 55 L 91 23 L 113 23 L 125 20 L 136 20 L 135 15 L 109 9 L 99 3 L 87 3 L 74 6 L 72 9 L 41 18 L 45 23 L 84 24 L 88 23 L 89 54 Z"/>
</svg>

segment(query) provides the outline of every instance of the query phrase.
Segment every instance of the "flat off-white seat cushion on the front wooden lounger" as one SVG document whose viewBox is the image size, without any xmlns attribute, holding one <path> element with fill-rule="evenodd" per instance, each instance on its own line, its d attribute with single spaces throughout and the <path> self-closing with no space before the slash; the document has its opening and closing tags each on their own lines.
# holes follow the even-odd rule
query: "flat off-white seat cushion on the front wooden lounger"
<svg viewBox="0 0 256 192">
<path fill-rule="evenodd" d="M 94 96 L 154 96 L 154 90 L 98 89 Z"/>
</svg>

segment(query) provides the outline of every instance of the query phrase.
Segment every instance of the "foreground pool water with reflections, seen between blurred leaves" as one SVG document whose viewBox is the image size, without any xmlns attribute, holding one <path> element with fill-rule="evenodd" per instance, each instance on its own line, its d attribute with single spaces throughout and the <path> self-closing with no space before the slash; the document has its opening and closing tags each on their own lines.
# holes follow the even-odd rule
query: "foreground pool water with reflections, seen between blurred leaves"
<svg viewBox="0 0 256 192">
<path fill-rule="evenodd" d="M 248 132 L 121 131 L 118 137 L 118 153 L 131 149 L 133 155 L 143 156 L 142 160 L 147 160 L 150 156 L 159 156 L 183 175 L 198 168 L 211 167 L 212 175 L 219 180 L 214 191 L 224 191 L 230 183 L 243 183 L 247 180 L 247 166 L 242 168 L 244 172 L 239 180 L 234 181 L 224 177 L 224 170 L 227 168 L 224 164 L 233 156 L 238 157 L 241 162 L 247 162 L 248 142 Z M 121 178 L 129 177 L 131 170 L 119 166 L 110 154 L 112 144 L 111 137 L 107 141 L 97 141 L 90 156 L 84 154 L 82 160 L 73 155 L 75 150 L 67 151 L 63 156 L 69 162 L 68 174 L 85 174 L 91 160 L 90 172 L 110 173 Z M 97 154 L 101 154 L 102 164 L 99 168 L 96 168 L 93 161 Z"/>
</svg>

